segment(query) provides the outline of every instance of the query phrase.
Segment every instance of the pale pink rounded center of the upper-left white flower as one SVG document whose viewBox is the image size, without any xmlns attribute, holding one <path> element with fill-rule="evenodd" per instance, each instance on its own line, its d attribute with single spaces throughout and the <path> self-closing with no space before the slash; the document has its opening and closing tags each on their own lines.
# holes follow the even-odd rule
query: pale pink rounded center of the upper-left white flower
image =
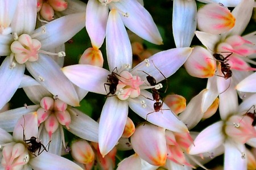
<svg viewBox="0 0 256 170">
<path fill-rule="evenodd" d="M 40 41 L 32 39 L 30 35 L 22 34 L 11 44 L 11 52 L 16 62 L 23 64 L 27 61 L 37 61 L 41 46 Z"/>
</svg>

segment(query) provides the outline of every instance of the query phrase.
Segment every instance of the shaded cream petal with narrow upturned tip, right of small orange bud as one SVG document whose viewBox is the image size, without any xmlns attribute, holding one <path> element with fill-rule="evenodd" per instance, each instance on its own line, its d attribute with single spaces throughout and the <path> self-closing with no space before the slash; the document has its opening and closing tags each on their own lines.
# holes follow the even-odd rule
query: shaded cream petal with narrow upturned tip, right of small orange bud
<svg viewBox="0 0 256 170">
<path fill-rule="evenodd" d="M 207 91 L 208 90 L 205 89 L 201 91 L 200 94 L 193 97 L 191 101 L 189 101 L 185 111 L 179 114 L 180 120 L 188 126 L 188 129 L 195 127 L 204 116 L 202 101 Z"/>
</svg>

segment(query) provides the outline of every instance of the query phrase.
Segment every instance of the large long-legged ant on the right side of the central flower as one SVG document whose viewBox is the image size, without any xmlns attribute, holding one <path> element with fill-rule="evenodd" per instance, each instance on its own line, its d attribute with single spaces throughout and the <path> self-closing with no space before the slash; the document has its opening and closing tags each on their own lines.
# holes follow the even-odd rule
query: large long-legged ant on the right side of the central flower
<svg viewBox="0 0 256 170">
<path fill-rule="evenodd" d="M 153 61 L 152 61 L 152 63 L 155 66 L 155 63 Z M 163 75 L 163 73 L 158 69 L 158 67 L 155 66 L 155 68 L 159 71 L 160 74 Z M 151 88 L 153 99 L 150 99 L 150 98 L 146 97 L 146 99 L 150 99 L 152 101 L 155 101 L 154 111 L 150 112 L 150 113 L 147 113 L 147 116 L 148 116 L 148 114 L 151 114 L 151 113 L 154 113 L 154 112 L 159 112 L 159 111 L 162 111 L 162 110 L 170 110 L 170 109 L 162 109 L 163 100 L 162 100 L 162 102 L 160 102 L 160 99 L 162 99 L 162 97 L 160 96 L 159 91 L 158 91 L 159 88 L 163 87 L 162 84 L 160 84 L 160 83 L 156 84 L 155 78 L 153 76 L 149 75 L 148 73 L 146 73 L 145 71 L 143 71 L 143 70 L 138 70 L 138 71 L 142 71 L 143 73 L 147 74 L 147 76 L 146 76 L 147 82 L 150 83 L 150 86 L 154 86 L 153 88 Z M 167 83 L 166 76 L 163 75 L 163 77 L 164 77 L 164 80 L 166 81 L 166 84 L 167 84 L 166 90 L 164 90 L 164 93 L 166 93 L 167 88 L 168 88 L 168 83 Z M 156 85 L 159 85 L 159 88 L 156 88 Z M 147 121 L 147 116 L 146 116 L 146 121 Z M 145 121 L 145 123 L 146 123 L 146 121 Z"/>
</svg>

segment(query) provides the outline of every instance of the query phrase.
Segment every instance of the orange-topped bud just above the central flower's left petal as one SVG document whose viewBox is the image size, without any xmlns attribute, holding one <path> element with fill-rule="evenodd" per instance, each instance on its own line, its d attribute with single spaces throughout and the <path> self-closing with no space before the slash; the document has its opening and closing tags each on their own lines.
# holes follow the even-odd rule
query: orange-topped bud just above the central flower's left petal
<svg viewBox="0 0 256 170">
<path fill-rule="evenodd" d="M 103 66 L 103 56 L 101 50 L 96 48 L 88 48 L 82 53 L 79 59 L 79 63 L 82 65 L 93 65 L 102 67 Z"/>
</svg>

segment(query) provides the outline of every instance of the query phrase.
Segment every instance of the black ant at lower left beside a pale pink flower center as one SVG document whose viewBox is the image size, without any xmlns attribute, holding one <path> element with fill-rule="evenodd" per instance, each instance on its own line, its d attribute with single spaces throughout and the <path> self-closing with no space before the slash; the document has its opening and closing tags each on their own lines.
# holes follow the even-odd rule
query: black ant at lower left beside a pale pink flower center
<svg viewBox="0 0 256 170">
<path fill-rule="evenodd" d="M 49 143 L 51 141 L 48 142 L 48 144 L 46 146 L 44 146 L 40 139 L 36 138 L 36 137 L 31 137 L 30 139 L 26 139 L 26 136 L 24 134 L 24 127 L 25 127 L 25 118 L 24 118 L 24 115 L 23 115 L 23 119 L 24 119 L 24 126 L 22 126 L 23 128 L 23 141 L 25 142 L 25 144 L 27 145 L 27 150 L 30 151 L 30 153 L 32 155 L 34 155 L 35 157 L 36 156 L 39 156 L 40 154 L 42 154 L 43 151 L 49 151 Z M 48 146 L 48 148 L 46 148 Z M 41 148 L 43 147 L 43 150 L 41 151 Z M 35 152 L 38 150 L 38 154 L 36 155 Z M 34 157 L 34 158 L 35 158 Z"/>
</svg>

